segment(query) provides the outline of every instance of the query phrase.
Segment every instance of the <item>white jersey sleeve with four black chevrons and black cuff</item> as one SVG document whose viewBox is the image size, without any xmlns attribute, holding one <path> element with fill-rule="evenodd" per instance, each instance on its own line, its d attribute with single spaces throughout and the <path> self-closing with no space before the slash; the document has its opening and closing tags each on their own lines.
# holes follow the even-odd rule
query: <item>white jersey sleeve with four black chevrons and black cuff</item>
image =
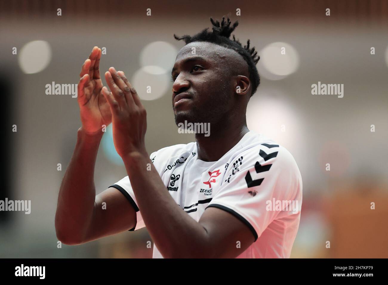
<svg viewBox="0 0 388 285">
<path fill-rule="evenodd" d="M 293 218 L 300 217 L 301 190 L 300 171 L 288 150 L 262 144 L 242 152 L 229 164 L 208 207 L 217 207 L 240 219 L 256 241 L 275 219 L 294 214 Z M 279 206 L 277 201 L 287 202 Z"/>
</svg>

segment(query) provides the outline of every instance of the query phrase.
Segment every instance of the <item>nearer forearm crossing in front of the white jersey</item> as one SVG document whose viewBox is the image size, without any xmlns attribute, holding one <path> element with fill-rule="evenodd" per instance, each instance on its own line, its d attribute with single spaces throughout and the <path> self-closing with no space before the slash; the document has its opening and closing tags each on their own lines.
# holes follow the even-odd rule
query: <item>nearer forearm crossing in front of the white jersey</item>
<svg viewBox="0 0 388 285">
<path fill-rule="evenodd" d="M 163 257 L 211 255 L 206 230 L 177 205 L 148 155 L 132 154 L 123 161 L 145 225 Z"/>
</svg>

